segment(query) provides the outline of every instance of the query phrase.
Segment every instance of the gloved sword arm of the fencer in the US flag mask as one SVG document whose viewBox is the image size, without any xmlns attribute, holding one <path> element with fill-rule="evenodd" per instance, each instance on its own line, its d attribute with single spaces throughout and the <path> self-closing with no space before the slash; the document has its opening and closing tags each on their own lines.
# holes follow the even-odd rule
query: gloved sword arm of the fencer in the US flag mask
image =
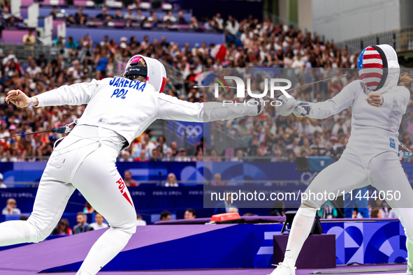
<svg viewBox="0 0 413 275">
<path fill-rule="evenodd" d="M 310 106 L 310 108 L 307 108 L 307 110 L 310 110 L 310 114 L 305 114 L 305 117 L 311 117 L 312 119 L 325 119 L 347 109 L 353 104 L 354 98 L 356 98 L 356 94 L 360 91 L 360 87 L 362 85 L 363 82 L 354 81 L 344 87 L 340 93 L 327 101 L 318 103 L 301 103 L 303 106 Z M 298 105 L 298 107 L 300 107 L 300 105 Z M 297 114 L 296 110 L 294 110 L 294 114 L 300 116 Z"/>
</svg>

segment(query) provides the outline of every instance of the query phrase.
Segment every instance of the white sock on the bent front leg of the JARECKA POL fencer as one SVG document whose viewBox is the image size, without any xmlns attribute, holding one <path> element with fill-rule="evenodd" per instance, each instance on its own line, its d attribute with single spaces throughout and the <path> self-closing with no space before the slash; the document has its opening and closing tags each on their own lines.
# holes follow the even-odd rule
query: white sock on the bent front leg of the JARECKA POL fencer
<svg viewBox="0 0 413 275">
<path fill-rule="evenodd" d="M 94 275 L 126 246 L 131 234 L 110 228 L 94 243 L 76 275 Z"/>
</svg>

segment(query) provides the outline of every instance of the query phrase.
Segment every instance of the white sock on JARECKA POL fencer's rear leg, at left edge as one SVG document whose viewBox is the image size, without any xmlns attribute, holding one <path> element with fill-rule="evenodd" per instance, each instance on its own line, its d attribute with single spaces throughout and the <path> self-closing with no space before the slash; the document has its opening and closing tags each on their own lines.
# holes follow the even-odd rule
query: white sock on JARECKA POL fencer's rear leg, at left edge
<svg viewBox="0 0 413 275">
<path fill-rule="evenodd" d="M 31 232 L 32 234 L 36 232 L 36 228 L 28 221 L 6 221 L 0 223 L 0 246 L 35 241 L 33 238 L 30 239 Z"/>
</svg>

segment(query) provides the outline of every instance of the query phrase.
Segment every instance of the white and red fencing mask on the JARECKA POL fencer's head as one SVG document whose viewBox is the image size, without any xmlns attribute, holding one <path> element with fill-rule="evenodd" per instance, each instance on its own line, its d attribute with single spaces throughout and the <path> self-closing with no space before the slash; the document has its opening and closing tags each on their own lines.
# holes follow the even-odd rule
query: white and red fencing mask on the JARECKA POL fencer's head
<svg viewBox="0 0 413 275">
<path fill-rule="evenodd" d="M 139 60 L 145 60 L 146 67 L 140 66 Z M 136 80 L 139 76 L 146 77 L 146 82 L 152 84 L 155 91 L 164 92 L 166 83 L 166 70 L 164 64 L 161 64 L 157 59 L 144 57 L 143 55 L 135 55 L 129 59 L 126 64 L 124 77 L 130 80 Z"/>
</svg>

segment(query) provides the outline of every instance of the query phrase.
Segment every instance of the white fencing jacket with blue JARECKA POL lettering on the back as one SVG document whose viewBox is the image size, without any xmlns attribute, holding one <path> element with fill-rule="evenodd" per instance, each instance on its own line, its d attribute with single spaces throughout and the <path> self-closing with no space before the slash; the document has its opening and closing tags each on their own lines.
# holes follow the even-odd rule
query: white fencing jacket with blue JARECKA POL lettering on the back
<svg viewBox="0 0 413 275">
<path fill-rule="evenodd" d="M 181 101 L 157 93 L 151 84 L 124 77 L 65 85 L 35 97 L 36 107 L 87 104 L 79 125 L 113 130 L 129 144 L 156 119 L 209 122 L 258 113 L 256 106 Z"/>
</svg>

